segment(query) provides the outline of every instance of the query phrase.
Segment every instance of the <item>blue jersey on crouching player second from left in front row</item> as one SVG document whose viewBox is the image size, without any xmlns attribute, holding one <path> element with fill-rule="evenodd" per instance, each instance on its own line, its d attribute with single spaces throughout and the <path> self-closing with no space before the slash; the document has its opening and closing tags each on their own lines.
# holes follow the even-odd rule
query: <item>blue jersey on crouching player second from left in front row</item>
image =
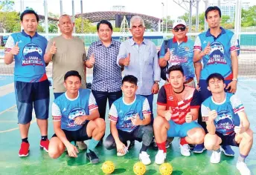
<svg viewBox="0 0 256 175">
<path fill-rule="evenodd" d="M 141 120 L 144 119 L 144 114 L 151 114 L 150 105 L 144 96 L 136 95 L 131 104 L 126 104 L 123 97 L 115 100 L 109 110 L 109 119 L 117 122 L 118 130 L 132 132 L 138 127 L 133 125 L 131 120 L 136 114 Z"/>
</svg>

